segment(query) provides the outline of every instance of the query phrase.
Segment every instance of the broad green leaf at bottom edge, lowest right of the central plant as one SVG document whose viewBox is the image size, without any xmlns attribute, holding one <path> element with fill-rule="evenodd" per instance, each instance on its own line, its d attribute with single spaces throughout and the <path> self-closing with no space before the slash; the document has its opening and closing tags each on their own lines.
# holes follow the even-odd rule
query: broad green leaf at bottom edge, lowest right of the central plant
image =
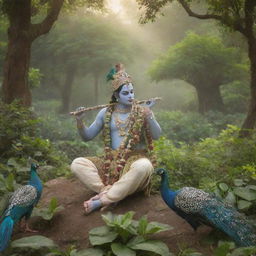
<svg viewBox="0 0 256 256">
<path fill-rule="evenodd" d="M 133 246 L 130 246 L 133 250 L 143 250 L 143 251 L 150 251 L 161 256 L 171 256 L 172 254 L 169 251 L 167 245 L 161 241 L 156 240 L 148 240 Z"/>
</svg>

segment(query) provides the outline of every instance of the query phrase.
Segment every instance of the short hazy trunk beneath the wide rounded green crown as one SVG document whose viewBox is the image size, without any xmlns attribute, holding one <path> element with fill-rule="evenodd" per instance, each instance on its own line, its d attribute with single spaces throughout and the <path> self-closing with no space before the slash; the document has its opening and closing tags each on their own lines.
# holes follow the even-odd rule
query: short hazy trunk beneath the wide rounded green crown
<svg viewBox="0 0 256 256">
<path fill-rule="evenodd" d="M 196 87 L 198 97 L 198 111 L 201 114 L 207 111 L 223 111 L 224 104 L 220 94 L 219 86 Z"/>
</svg>

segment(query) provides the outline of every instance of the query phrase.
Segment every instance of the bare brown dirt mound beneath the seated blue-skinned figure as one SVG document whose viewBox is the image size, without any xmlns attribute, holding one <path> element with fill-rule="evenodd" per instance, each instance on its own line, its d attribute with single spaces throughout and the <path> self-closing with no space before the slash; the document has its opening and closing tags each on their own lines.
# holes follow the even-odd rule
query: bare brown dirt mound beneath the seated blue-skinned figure
<svg viewBox="0 0 256 256">
<path fill-rule="evenodd" d="M 52 197 L 58 199 L 65 209 L 59 212 L 50 222 L 42 218 L 34 217 L 30 220 L 30 226 L 39 231 L 39 235 L 54 240 L 60 247 L 76 244 L 78 248 L 89 247 L 88 232 L 97 226 L 104 224 L 101 211 L 95 211 L 85 215 L 83 210 L 84 200 L 93 195 L 77 179 L 58 178 L 47 182 L 40 206 L 48 205 Z M 132 195 L 119 202 L 114 208 L 108 209 L 115 214 L 124 214 L 134 211 L 135 219 L 147 215 L 149 221 L 157 221 L 171 225 L 174 229 L 162 232 L 156 236 L 164 241 L 170 251 L 177 252 L 179 247 L 192 247 L 204 255 L 212 255 L 209 249 L 200 244 L 200 239 L 209 233 L 207 227 L 200 228 L 195 232 L 182 218 L 177 216 L 162 201 L 160 195 L 144 196 L 142 193 Z M 31 234 L 16 233 L 13 239 Z"/>
</svg>

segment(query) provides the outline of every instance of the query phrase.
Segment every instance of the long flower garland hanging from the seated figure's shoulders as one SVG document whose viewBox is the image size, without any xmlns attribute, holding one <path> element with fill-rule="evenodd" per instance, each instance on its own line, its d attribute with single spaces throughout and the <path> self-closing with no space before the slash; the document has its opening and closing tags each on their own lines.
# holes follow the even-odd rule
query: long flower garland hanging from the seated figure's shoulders
<svg viewBox="0 0 256 256">
<path fill-rule="evenodd" d="M 106 111 L 105 124 L 103 130 L 103 139 L 105 145 L 105 157 L 103 166 L 103 183 L 111 185 L 119 179 L 121 171 L 129 158 L 129 154 L 134 150 L 135 146 L 140 142 L 141 135 L 144 135 L 147 144 L 147 152 L 152 161 L 153 166 L 156 164 L 156 158 L 153 154 L 153 140 L 148 122 L 146 120 L 145 108 L 136 104 L 132 105 L 131 113 L 128 121 L 128 131 L 124 137 L 120 147 L 118 148 L 117 156 L 114 158 L 111 149 L 110 122 L 114 106 L 111 106 Z M 144 131 L 143 131 L 144 128 Z M 111 164 L 115 162 L 114 168 Z"/>
</svg>

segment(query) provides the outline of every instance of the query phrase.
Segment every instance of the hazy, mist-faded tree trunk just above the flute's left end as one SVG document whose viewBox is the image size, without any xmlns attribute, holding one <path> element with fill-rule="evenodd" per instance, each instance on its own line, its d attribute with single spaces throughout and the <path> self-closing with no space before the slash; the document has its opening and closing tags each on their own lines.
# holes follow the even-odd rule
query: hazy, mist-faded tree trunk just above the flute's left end
<svg viewBox="0 0 256 256">
<path fill-rule="evenodd" d="M 69 66 L 66 72 L 66 80 L 61 92 L 62 106 L 60 108 L 60 113 L 62 114 L 67 114 L 69 112 L 70 98 L 71 98 L 73 82 L 75 79 L 75 73 L 76 73 L 76 66 L 75 65 L 72 65 L 71 67 Z"/>
</svg>

